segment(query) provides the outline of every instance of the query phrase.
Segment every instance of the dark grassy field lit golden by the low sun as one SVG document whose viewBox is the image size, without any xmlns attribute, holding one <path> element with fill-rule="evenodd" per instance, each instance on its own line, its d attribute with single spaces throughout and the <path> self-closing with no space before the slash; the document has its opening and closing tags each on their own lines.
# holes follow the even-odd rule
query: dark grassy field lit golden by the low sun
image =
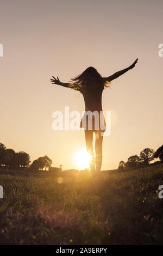
<svg viewBox="0 0 163 256">
<path fill-rule="evenodd" d="M 0 185 L 1 245 L 163 244 L 162 166 L 95 179 L 0 172 Z"/>
</svg>

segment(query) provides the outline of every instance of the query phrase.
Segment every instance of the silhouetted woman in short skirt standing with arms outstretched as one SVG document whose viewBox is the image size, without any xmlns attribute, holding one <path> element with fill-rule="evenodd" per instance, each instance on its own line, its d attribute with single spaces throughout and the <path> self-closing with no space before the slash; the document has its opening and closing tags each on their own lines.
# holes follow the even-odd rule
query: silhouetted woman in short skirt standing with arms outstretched
<svg viewBox="0 0 163 256">
<path fill-rule="evenodd" d="M 131 64 L 128 68 L 123 69 L 121 71 L 116 72 L 115 74 L 109 77 L 102 77 L 95 68 L 90 66 L 87 68 L 81 75 L 78 75 L 76 78 L 71 79 L 72 83 L 62 83 L 59 78 L 57 79 L 53 76 L 54 79 L 51 79 L 52 84 L 59 84 L 60 86 L 64 86 L 67 88 L 78 90 L 83 94 L 84 102 L 85 102 L 85 114 L 81 120 L 80 127 L 83 127 L 85 130 L 85 142 L 86 142 L 86 150 L 91 155 L 92 161 L 90 162 L 91 171 L 100 171 L 102 165 L 102 142 L 103 136 L 101 132 L 105 131 L 105 119 L 104 116 L 101 119 L 102 124 L 100 124 L 100 112 L 102 112 L 102 93 L 105 87 L 109 87 L 109 82 L 114 80 L 115 78 L 123 75 L 128 70 L 133 69 L 137 60 L 133 64 Z M 99 113 L 98 120 L 98 130 L 95 124 L 95 116 L 92 115 L 92 125 L 91 130 L 89 126 L 89 115 L 87 113 L 95 112 Z M 84 119 L 85 118 L 85 119 Z M 84 123 L 84 120 L 85 123 Z M 97 119 L 96 119 L 97 120 Z M 84 124 L 83 124 L 84 123 Z M 95 127 L 96 126 L 96 127 Z M 95 142 L 95 156 L 93 154 L 93 132 L 96 135 Z"/>
</svg>

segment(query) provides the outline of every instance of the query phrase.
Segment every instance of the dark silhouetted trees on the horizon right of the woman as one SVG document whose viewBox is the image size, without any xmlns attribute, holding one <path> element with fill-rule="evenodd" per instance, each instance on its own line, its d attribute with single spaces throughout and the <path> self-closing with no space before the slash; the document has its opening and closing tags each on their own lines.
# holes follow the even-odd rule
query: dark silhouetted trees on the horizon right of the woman
<svg viewBox="0 0 163 256">
<path fill-rule="evenodd" d="M 136 168 L 149 164 L 154 159 L 160 159 L 160 162 L 163 162 L 163 145 L 159 147 L 156 151 L 150 148 L 145 148 L 140 152 L 140 155 L 130 156 L 125 163 L 121 161 L 119 163 L 118 169 L 128 169 Z"/>
</svg>

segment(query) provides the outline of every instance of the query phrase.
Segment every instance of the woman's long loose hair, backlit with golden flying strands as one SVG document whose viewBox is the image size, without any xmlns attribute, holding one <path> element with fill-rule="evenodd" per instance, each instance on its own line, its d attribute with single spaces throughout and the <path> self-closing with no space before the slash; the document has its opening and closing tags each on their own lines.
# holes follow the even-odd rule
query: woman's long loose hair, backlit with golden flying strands
<svg viewBox="0 0 163 256">
<path fill-rule="evenodd" d="M 109 87 L 109 81 L 103 83 L 102 76 L 98 73 L 98 71 L 90 66 L 80 75 L 71 79 L 70 87 L 75 87 L 74 89 L 78 89 L 84 87 L 86 89 L 93 89 L 97 86 L 100 87 Z"/>
</svg>

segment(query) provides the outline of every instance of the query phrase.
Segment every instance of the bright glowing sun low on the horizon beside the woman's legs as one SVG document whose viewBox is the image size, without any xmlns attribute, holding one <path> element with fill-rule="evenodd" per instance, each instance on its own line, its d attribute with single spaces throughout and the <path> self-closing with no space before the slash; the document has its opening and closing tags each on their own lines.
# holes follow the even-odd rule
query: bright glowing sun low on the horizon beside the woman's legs
<svg viewBox="0 0 163 256">
<path fill-rule="evenodd" d="M 91 156 L 89 153 L 86 152 L 86 150 L 82 149 L 77 151 L 75 155 L 75 161 L 80 170 L 90 168 L 89 163 L 91 161 Z"/>
</svg>

